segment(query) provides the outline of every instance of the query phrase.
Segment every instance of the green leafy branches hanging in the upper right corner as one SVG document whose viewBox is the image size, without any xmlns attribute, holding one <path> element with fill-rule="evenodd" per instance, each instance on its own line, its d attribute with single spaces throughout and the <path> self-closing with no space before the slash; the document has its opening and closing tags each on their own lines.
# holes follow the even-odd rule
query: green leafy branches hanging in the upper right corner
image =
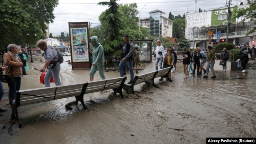
<svg viewBox="0 0 256 144">
<path fill-rule="evenodd" d="M 245 8 L 240 8 L 237 9 L 237 18 L 243 17 L 243 22 L 245 21 L 245 19 L 249 19 L 251 21 L 254 22 L 254 25 L 256 24 L 256 0 L 247 0 L 247 3 L 249 5 L 249 7 L 245 7 Z M 249 31 L 248 34 L 250 33 L 255 33 L 256 31 L 256 27 L 252 27 L 252 29 Z"/>
</svg>

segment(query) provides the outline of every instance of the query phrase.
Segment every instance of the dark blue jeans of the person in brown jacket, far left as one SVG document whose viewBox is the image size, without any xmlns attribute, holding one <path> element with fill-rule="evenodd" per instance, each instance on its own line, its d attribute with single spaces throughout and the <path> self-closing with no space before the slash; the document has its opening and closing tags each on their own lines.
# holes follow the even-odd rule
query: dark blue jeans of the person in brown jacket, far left
<svg viewBox="0 0 256 144">
<path fill-rule="evenodd" d="M 9 87 L 9 104 L 12 100 L 15 100 L 15 94 L 17 90 L 20 90 L 21 77 L 14 77 L 13 83 L 8 83 Z"/>
</svg>

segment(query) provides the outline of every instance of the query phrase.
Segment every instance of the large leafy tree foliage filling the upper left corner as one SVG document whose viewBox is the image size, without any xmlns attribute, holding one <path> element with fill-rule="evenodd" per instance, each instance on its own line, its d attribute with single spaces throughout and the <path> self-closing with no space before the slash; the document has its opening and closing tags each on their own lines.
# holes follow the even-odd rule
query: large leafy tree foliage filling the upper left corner
<svg viewBox="0 0 256 144">
<path fill-rule="evenodd" d="M 30 44 L 45 39 L 45 23 L 53 22 L 54 7 L 58 3 L 58 0 L 1 0 L 0 49 L 5 49 L 11 43 L 28 44 L 28 33 Z"/>
</svg>

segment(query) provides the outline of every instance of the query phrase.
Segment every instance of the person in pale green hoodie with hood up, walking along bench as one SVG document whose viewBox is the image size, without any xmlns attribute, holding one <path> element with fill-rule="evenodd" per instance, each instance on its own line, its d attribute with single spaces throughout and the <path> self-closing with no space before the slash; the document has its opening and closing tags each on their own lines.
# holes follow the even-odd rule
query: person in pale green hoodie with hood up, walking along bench
<svg viewBox="0 0 256 144">
<path fill-rule="evenodd" d="M 90 41 L 93 44 L 93 63 L 91 64 L 90 81 L 93 81 L 97 69 L 99 70 L 100 78 L 106 79 L 104 75 L 104 49 L 97 36 L 91 37 Z"/>
</svg>

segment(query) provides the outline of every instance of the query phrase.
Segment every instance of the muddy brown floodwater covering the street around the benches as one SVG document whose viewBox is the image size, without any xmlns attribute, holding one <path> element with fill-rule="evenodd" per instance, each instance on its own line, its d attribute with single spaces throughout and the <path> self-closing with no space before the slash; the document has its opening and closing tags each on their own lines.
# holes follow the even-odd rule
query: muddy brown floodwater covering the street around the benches
<svg viewBox="0 0 256 144">
<path fill-rule="evenodd" d="M 33 70 L 43 65 L 40 58 L 33 56 L 21 89 L 44 87 L 39 83 L 41 72 Z M 154 69 L 154 63 L 149 64 L 139 74 Z M 211 72 L 209 79 L 184 79 L 183 71 L 176 71 L 172 83 L 156 78 L 160 88 L 142 83 L 135 86 L 135 94 L 123 91 L 124 99 L 113 96 L 112 90 L 87 94 L 88 110 L 80 103 L 66 109 L 75 98 L 26 105 L 18 108 L 22 128 L 8 124 L 11 109 L 1 105 L 8 111 L 0 117 L 0 143 L 205 144 L 206 137 L 256 137 L 255 74 L 252 69 L 245 74 L 217 71 L 216 79 L 210 79 Z M 71 70 L 67 62 L 61 64 L 60 75 L 63 84 L 89 81 L 89 70 Z M 105 75 L 120 76 L 111 71 Z M 129 73 L 126 76 L 130 80 Z M 98 72 L 95 80 L 100 80 Z M 7 94 L 3 99 L 1 104 L 7 102 Z"/>
</svg>

